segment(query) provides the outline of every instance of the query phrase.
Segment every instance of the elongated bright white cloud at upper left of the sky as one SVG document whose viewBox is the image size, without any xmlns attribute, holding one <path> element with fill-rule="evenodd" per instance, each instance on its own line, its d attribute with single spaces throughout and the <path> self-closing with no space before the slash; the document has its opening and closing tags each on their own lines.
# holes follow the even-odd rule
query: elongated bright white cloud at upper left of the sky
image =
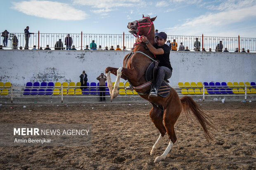
<svg viewBox="0 0 256 170">
<path fill-rule="evenodd" d="M 39 0 L 30 0 L 30 1 L 21 1 L 21 2 L 12 2 L 13 7 L 19 12 L 22 12 L 27 15 L 37 16 L 45 19 L 58 19 L 58 20 L 83 20 L 88 14 L 85 12 L 71 7 L 69 4 L 52 2 L 52 1 L 39 1 Z"/>
</svg>

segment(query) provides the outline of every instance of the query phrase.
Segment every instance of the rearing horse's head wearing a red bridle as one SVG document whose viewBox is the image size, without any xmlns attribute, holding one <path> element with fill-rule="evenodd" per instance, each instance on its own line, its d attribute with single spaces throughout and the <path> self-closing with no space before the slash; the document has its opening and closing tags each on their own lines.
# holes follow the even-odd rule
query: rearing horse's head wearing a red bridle
<svg viewBox="0 0 256 170">
<path fill-rule="evenodd" d="M 150 18 L 149 16 L 145 17 L 143 15 L 142 19 L 129 22 L 127 28 L 129 29 L 129 32 L 133 35 L 147 36 L 151 31 L 155 31 L 153 24 L 153 21 L 155 21 L 155 19 L 156 17 Z"/>
</svg>

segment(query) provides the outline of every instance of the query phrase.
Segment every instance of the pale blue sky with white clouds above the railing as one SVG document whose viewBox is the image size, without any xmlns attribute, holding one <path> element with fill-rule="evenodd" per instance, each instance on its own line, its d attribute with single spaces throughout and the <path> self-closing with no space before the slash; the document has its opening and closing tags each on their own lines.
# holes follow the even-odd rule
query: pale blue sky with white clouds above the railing
<svg viewBox="0 0 256 170">
<path fill-rule="evenodd" d="M 256 0 L 9 0 L 0 14 L 10 33 L 130 34 L 144 14 L 167 35 L 256 37 Z"/>
</svg>

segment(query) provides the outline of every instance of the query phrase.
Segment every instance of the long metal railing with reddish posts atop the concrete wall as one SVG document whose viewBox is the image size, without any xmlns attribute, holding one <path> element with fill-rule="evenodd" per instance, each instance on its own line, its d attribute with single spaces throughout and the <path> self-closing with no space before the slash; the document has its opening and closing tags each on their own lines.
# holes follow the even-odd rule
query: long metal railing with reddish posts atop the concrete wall
<svg viewBox="0 0 256 170">
<path fill-rule="evenodd" d="M 24 33 L 9 33 L 8 34 L 8 41 L 7 41 L 7 48 L 5 49 L 12 49 L 12 37 L 16 35 L 17 39 L 19 41 L 18 43 L 18 49 L 19 47 L 25 47 L 25 34 Z M 65 44 L 65 37 L 67 36 L 67 33 L 38 33 L 31 34 L 29 38 L 28 46 L 29 48 L 33 48 L 34 45 L 36 45 L 36 48 L 39 49 L 42 47 L 43 49 L 46 47 L 46 45 L 49 45 L 49 47 L 54 50 L 55 43 L 61 39 L 63 42 L 63 45 Z M 83 34 L 81 33 L 70 33 L 70 37 L 73 40 L 73 44 L 77 50 L 83 50 L 85 49 L 85 46 L 88 45 L 90 48 L 90 43 L 92 40 L 95 40 L 95 43 L 97 44 L 97 48 L 99 45 L 101 45 L 102 49 L 104 49 L 106 46 L 111 47 L 113 46 L 116 48 L 117 45 L 120 46 L 121 49 L 123 49 L 124 46 L 126 46 L 126 49 L 133 48 L 133 44 L 135 42 L 135 37 L 131 34 Z M 223 44 L 223 50 L 227 48 L 229 51 L 235 51 L 236 48 L 239 49 L 239 51 L 242 50 L 242 48 L 247 51 L 249 49 L 250 51 L 256 51 L 256 38 L 246 38 L 246 37 L 209 37 L 209 36 L 183 36 L 183 35 L 168 35 L 167 41 L 173 42 L 173 40 L 176 40 L 179 49 L 180 43 L 183 42 L 183 45 L 185 47 L 188 47 L 190 50 L 194 50 L 194 42 L 198 38 L 201 47 L 200 50 L 203 48 L 207 51 L 211 48 L 212 51 L 215 51 L 216 46 L 220 41 L 222 41 Z M 0 44 L 3 43 L 4 37 L 0 37 Z M 3 45 L 3 44 L 2 44 Z M 65 47 L 65 45 L 64 45 Z"/>
</svg>

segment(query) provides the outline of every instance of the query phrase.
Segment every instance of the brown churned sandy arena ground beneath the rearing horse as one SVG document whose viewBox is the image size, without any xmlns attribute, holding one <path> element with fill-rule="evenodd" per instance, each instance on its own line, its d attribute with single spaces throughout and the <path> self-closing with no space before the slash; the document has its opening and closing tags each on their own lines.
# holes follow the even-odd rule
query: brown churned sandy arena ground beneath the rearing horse
<svg viewBox="0 0 256 170">
<path fill-rule="evenodd" d="M 147 102 L 90 104 L 3 104 L 0 123 L 92 123 L 90 147 L 0 147 L 0 169 L 193 170 L 256 169 L 256 102 L 200 102 L 217 130 L 206 141 L 198 121 L 181 114 L 177 142 L 166 160 L 153 163 L 168 145 L 167 135 L 154 156 L 159 132 Z M 105 106 L 104 106 L 105 105 Z M 13 108 L 10 108 L 13 106 Z M 92 107 L 94 107 L 92 109 Z M 31 111 L 29 111 L 31 110 Z"/>
</svg>

